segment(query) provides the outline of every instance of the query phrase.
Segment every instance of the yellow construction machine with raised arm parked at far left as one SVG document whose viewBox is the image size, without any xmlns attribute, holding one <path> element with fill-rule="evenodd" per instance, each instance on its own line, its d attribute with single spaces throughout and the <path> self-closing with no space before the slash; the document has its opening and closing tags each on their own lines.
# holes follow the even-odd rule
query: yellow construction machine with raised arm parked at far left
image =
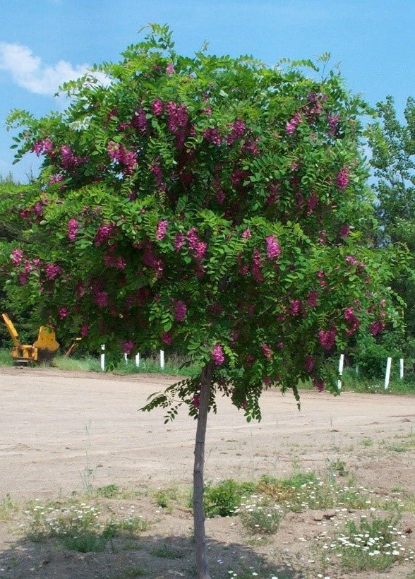
<svg viewBox="0 0 415 579">
<path fill-rule="evenodd" d="M 3 318 L 8 333 L 11 335 L 11 339 L 13 340 L 14 347 L 11 351 L 13 362 L 18 362 L 19 364 L 47 362 L 47 360 L 54 357 L 59 349 L 59 343 L 56 342 L 56 335 L 50 326 L 40 326 L 37 340 L 32 346 L 30 346 L 20 342 L 16 328 L 13 326 L 13 322 L 8 315 L 1 314 L 1 317 Z"/>
</svg>

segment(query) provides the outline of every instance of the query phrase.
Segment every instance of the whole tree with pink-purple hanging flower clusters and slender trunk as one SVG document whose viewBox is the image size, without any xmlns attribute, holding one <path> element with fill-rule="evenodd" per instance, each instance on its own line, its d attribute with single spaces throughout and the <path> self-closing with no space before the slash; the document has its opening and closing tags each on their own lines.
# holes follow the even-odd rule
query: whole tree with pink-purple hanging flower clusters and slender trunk
<svg viewBox="0 0 415 579">
<path fill-rule="evenodd" d="M 11 254 L 11 295 L 59 333 L 119 357 L 172 345 L 203 368 L 154 395 L 198 419 L 194 518 L 208 577 L 203 455 L 226 395 L 260 418 L 264 388 L 328 381 L 325 359 L 393 317 L 387 267 L 360 234 L 371 216 L 359 154 L 365 105 L 308 61 L 267 68 L 174 52 L 152 25 L 119 64 L 68 83 L 62 114 L 20 126 L 17 158 L 42 155 L 40 194 L 16 201 L 37 244 Z M 97 73 L 105 82 L 97 80 Z"/>
</svg>

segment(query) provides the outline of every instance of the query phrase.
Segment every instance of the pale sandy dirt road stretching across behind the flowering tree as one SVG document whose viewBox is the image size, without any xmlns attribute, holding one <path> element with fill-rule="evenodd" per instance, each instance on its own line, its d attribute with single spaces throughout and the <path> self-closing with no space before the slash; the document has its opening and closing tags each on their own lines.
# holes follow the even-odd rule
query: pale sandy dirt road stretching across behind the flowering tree
<svg viewBox="0 0 415 579">
<path fill-rule="evenodd" d="M 169 424 L 163 411 L 138 412 L 175 379 L 0 369 L 0 496 L 48 496 L 89 483 L 191 484 L 194 420 L 185 409 Z M 248 424 L 219 400 L 208 420 L 207 480 L 283 477 L 296 463 L 321 469 L 342 458 L 368 484 L 373 477 L 378 488 L 415 490 L 413 454 L 387 450 L 387 441 L 411 432 L 414 398 L 307 391 L 299 412 L 290 393 L 267 391 L 261 407 L 262 421 Z"/>
</svg>

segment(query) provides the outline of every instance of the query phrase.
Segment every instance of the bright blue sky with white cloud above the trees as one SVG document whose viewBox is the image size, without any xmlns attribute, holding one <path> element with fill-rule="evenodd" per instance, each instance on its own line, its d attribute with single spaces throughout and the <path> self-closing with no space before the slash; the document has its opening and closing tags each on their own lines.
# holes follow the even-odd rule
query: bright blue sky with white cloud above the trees
<svg viewBox="0 0 415 579">
<path fill-rule="evenodd" d="M 59 109 L 54 93 L 85 67 L 116 61 L 146 23 L 169 23 L 176 49 L 192 55 L 253 54 L 339 64 L 347 87 L 372 105 L 395 97 L 399 116 L 415 93 L 415 0 L 1 0 L 0 174 L 25 182 L 37 158 L 12 165 L 11 109 Z"/>
</svg>

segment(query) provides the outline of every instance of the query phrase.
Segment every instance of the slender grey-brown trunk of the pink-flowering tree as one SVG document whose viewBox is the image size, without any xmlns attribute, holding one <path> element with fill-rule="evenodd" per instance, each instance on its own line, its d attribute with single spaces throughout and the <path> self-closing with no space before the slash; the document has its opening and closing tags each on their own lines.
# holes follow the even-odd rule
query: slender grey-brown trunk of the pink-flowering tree
<svg viewBox="0 0 415 579">
<path fill-rule="evenodd" d="M 205 465 L 205 437 L 208 405 L 212 381 L 212 363 L 202 370 L 200 383 L 198 427 L 196 429 L 195 463 L 193 468 L 193 523 L 196 539 L 196 569 L 198 579 L 210 579 L 206 551 L 205 512 L 203 510 L 203 467 Z"/>
</svg>

